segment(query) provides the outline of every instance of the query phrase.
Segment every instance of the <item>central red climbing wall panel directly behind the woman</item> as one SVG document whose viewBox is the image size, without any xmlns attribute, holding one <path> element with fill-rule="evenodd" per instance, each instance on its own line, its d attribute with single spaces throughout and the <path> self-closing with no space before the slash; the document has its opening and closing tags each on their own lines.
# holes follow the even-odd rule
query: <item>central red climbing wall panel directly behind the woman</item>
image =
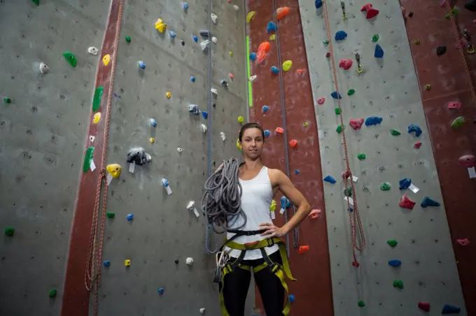
<svg viewBox="0 0 476 316">
<path fill-rule="evenodd" d="M 290 179 L 308 199 L 312 208 L 321 208 L 323 215 L 316 220 L 302 222 L 300 245 L 309 245 L 309 252 L 298 254 L 293 248 L 293 233 L 290 233 L 290 266 L 297 282 L 289 282 L 290 294 L 295 295 L 291 315 L 334 315 L 330 280 L 330 261 L 327 227 L 323 199 L 321 157 L 312 101 L 309 75 L 299 75 L 297 69 L 307 70 L 307 57 L 304 49 L 304 37 L 297 0 L 278 0 L 277 6 L 287 6 L 290 13 L 279 22 L 281 62 L 289 59 L 293 62 L 290 71 L 283 72 L 283 92 L 286 105 L 286 128 L 288 141 L 295 139 L 297 147 L 289 150 Z M 273 19 L 272 0 L 248 1 L 248 12 L 256 11 L 248 24 L 250 52 L 257 52 L 263 41 L 269 41 L 266 32 L 267 22 Z M 270 41 L 271 49 L 265 62 L 260 65 L 251 62 L 251 75 L 257 75 L 253 82 L 253 107 L 250 108 L 250 122 L 258 122 L 263 128 L 272 131 L 265 145 L 265 164 L 270 168 L 279 168 L 286 172 L 286 159 L 283 136 L 274 135 L 276 127 L 282 127 L 281 93 L 279 77 L 272 75 L 271 66 L 279 66 L 276 42 Z M 269 106 L 266 115 L 262 106 Z M 304 122 L 308 126 L 304 127 Z M 287 144 L 286 144 L 287 145 Z M 300 173 L 295 175 L 295 170 Z M 279 198 L 276 196 L 279 206 Z M 278 208 L 279 209 L 279 208 Z M 288 210 L 291 216 L 292 209 Z M 284 217 L 276 212 L 276 223 L 284 223 Z M 260 296 L 257 292 L 258 306 Z M 263 312 L 264 314 L 264 312 Z"/>
</svg>

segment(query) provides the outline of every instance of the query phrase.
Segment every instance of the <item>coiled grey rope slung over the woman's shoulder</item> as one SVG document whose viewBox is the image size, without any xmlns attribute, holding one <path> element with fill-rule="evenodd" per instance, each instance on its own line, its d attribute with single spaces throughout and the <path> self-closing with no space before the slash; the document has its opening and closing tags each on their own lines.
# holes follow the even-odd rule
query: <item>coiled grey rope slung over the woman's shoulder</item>
<svg viewBox="0 0 476 316">
<path fill-rule="evenodd" d="M 237 158 L 223 160 L 223 164 L 205 182 L 202 210 L 209 224 L 213 224 L 217 234 L 223 234 L 231 227 L 237 230 L 244 227 L 246 215 L 241 209 L 241 184 Z M 243 218 L 243 224 L 233 227 L 239 217 Z"/>
</svg>

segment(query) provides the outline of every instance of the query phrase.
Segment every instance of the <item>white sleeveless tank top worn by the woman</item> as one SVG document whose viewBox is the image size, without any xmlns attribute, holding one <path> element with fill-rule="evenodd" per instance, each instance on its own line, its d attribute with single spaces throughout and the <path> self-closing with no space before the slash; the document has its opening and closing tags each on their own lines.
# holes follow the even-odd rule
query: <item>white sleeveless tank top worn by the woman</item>
<svg viewBox="0 0 476 316">
<path fill-rule="evenodd" d="M 257 231 L 260 228 L 261 223 L 272 222 L 271 214 L 269 213 L 269 206 L 273 199 L 273 188 L 269 175 L 267 173 L 267 167 L 263 166 L 260 173 L 251 180 L 241 180 L 241 208 L 246 214 L 246 224 L 242 227 L 241 231 Z M 237 217 L 235 222 L 230 223 L 230 229 L 233 227 L 240 227 L 243 224 L 243 217 Z M 235 234 L 228 233 L 227 238 L 230 239 Z M 233 241 L 236 243 L 252 243 L 253 241 L 263 240 L 265 236 L 253 235 L 253 236 L 239 236 Z M 225 247 L 225 250 L 229 251 L 229 247 Z M 271 247 L 265 247 L 266 253 L 272 254 L 279 250 L 278 245 L 272 245 Z M 230 256 L 238 258 L 241 254 L 241 250 L 231 250 Z M 261 250 L 253 249 L 246 250 L 244 260 L 261 259 Z"/>
</svg>

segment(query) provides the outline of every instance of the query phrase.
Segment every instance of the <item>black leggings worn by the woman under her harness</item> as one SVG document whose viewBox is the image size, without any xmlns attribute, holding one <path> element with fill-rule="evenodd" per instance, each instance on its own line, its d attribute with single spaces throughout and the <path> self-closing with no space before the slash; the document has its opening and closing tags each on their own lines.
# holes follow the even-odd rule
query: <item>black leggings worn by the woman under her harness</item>
<svg viewBox="0 0 476 316">
<path fill-rule="evenodd" d="M 283 264 L 279 251 L 269 255 L 269 259 L 275 264 Z M 243 260 L 245 266 L 259 266 L 264 259 Z M 284 308 L 284 288 L 281 280 L 272 273 L 268 267 L 258 273 L 254 273 L 255 282 L 261 294 L 262 303 L 265 306 L 266 316 L 282 316 Z M 223 287 L 223 299 L 230 316 L 244 316 L 244 304 L 251 280 L 251 271 L 235 268 L 235 271 L 225 275 Z M 221 284 L 220 284 L 221 285 Z M 222 285 L 221 285 L 222 286 Z"/>
</svg>

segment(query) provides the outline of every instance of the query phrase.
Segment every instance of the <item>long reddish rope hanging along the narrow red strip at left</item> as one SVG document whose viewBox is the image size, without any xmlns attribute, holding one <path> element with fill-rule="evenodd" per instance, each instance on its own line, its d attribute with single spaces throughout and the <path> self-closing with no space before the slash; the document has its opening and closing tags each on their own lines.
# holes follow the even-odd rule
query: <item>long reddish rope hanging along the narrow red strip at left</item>
<svg viewBox="0 0 476 316">
<path fill-rule="evenodd" d="M 92 213 L 92 225 L 90 234 L 89 249 L 87 252 L 86 272 L 84 276 L 85 287 L 87 291 L 94 289 L 94 315 L 97 315 L 98 303 L 98 289 L 101 283 L 101 259 L 102 259 L 102 245 L 104 240 L 104 224 L 106 220 L 106 201 L 108 184 L 106 180 L 106 154 L 107 144 L 109 140 L 109 118 L 111 114 L 111 99 L 113 94 L 114 74 L 116 73 L 116 56 L 118 55 L 118 41 L 120 34 L 120 22 L 123 16 L 123 0 L 119 1 L 118 9 L 118 24 L 116 25 L 116 36 L 114 38 L 113 58 L 111 60 L 111 78 L 109 80 L 109 92 L 106 107 L 106 125 L 104 127 L 104 142 L 103 152 L 101 157 L 101 172 L 97 178 L 96 200 L 94 203 L 94 210 Z M 101 196 L 102 181 L 104 180 L 104 189 L 102 196 L 102 208 L 99 206 Z M 99 213 L 101 213 L 101 227 L 99 226 Z M 99 236 L 98 236 L 99 235 Z M 99 238 L 99 240 L 98 240 Z"/>
</svg>

